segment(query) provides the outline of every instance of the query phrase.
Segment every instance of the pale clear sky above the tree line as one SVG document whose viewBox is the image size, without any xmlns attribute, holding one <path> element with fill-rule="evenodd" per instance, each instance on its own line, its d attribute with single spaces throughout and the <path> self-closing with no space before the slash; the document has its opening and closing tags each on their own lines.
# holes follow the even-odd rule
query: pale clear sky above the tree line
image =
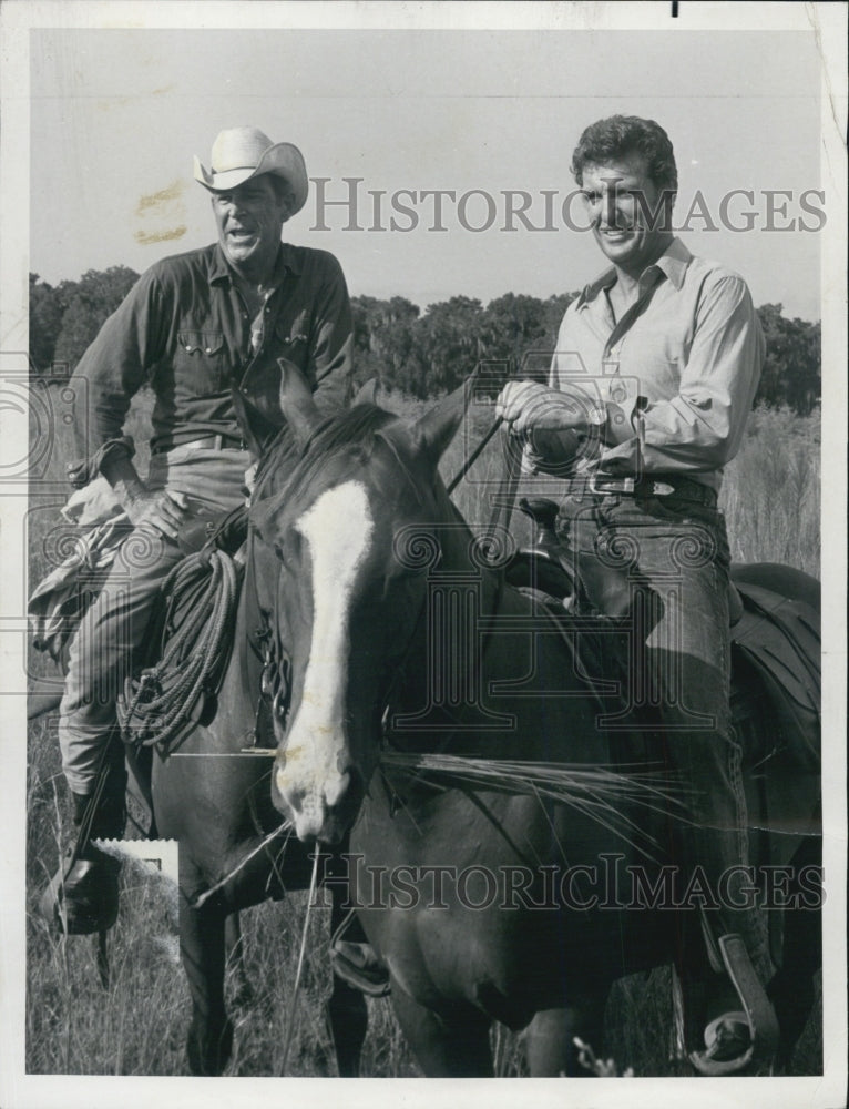
<svg viewBox="0 0 849 1109">
<path fill-rule="evenodd" d="M 819 316 L 819 68 L 812 32 L 71 30 L 30 32 L 30 269 L 52 284 L 86 269 L 143 271 L 214 237 L 192 156 L 249 123 L 304 152 L 311 186 L 285 228 L 331 251 L 350 292 L 422 308 L 452 295 L 548 297 L 602 268 L 579 204 L 561 206 L 583 128 L 625 113 L 668 132 L 682 237 L 749 282 L 756 304 Z M 756 64 L 753 62 L 756 60 Z M 357 217 L 318 201 L 346 200 Z M 391 230 L 393 194 L 418 225 Z M 441 223 L 426 190 L 453 191 Z M 504 191 L 531 197 L 509 218 Z M 723 197 L 736 194 L 722 217 Z M 376 218 L 370 193 L 382 191 Z M 771 202 L 768 193 L 789 192 Z M 546 201 L 546 193 L 552 197 Z M 464 205 L 459 201 L 467 196 Z M 804 211 L 825 210 L 822 216 Z M 488 200 L 492 197 L 492 200 Z M 519 201 L 514 201 L 519 203 Z M 545 204 L 551 207 L 546 215 Z M 769 205 L 774 212 L 770 215 Z M 755 215 L 750 231 L 745 212 Z M 512 222 L 515 230 L 504 230 Z M 411 216 L 396 213 L 396 228 Z M 767 230 L 768 226 L 776 230 Z M 794 226 L 795 224 L 795 226 Z M 371 230 L 375 225 L 382 230 Z M 792 230 L 778 230 L 791 226 Z M 437 226 L 443 231 L 434 230 Z M 481 230 L 472 231 L 470 227 Z"/>
</svg>

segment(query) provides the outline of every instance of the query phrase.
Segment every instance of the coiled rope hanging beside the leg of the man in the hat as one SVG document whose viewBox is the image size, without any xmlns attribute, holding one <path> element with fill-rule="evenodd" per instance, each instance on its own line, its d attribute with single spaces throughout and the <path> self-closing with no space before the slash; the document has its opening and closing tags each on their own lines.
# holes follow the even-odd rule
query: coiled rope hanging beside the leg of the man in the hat
<svg viewBox="0 0 849 1109">
<path fill-rule="evenodd" d="M 154 667 L 127 678 L 119 696 L 126 743 L 167 750 L 203 715 L 229 659 L 238 577 L 235 560 L 213 547 L 186 556 L 167 576 L 164 653 Z"/>
</svg>

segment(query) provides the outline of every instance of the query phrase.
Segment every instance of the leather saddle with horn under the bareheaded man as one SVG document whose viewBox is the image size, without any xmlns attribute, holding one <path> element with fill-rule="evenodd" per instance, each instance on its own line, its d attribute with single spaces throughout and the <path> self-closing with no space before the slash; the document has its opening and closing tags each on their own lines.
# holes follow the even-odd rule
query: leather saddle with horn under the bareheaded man
<svg viewBox="0 0 849 1109">
<path fill-rule="evenodd" d="M 563 557 L 554 531 L 558 506 L 522 498 L 520 508 L 536 526 L 534 547 L 507 567 L 510 584 L 545 606 L 555 618 L 601 609 L 623 624 L 633 603 L 627 571 L 581 552 Z M 732 568 L 729 623 L 733 673 L 765 696 L 774 712 L 773 751 L 786 751 L 800 770 L 820 765 L 819 586 L 807 574 L 775 563 Z M 592 606 L 589 598 L 596 600 Z"/>
</svg>

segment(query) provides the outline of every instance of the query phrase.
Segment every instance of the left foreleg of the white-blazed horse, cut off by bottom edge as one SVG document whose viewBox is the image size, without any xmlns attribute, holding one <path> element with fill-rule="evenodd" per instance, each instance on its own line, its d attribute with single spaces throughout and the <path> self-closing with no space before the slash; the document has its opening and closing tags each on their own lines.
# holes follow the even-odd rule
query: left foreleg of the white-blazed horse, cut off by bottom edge
<svg viewBox="0 0 849 1109">
<path fill-rule="evenodd" d="M 392 981 L 398 1024 L 428 1078 L 492 1078 L 490 1019 L 472 1006 L 450 1015 L 419 1005 Z"/>
</svg>

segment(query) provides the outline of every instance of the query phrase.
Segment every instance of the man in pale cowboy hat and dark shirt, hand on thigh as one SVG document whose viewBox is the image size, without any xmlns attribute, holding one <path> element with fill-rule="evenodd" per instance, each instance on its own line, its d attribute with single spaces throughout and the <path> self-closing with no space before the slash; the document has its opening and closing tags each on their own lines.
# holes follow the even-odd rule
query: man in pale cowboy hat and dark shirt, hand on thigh
<svg viewBox="0 0 849 1109">
<path fill-rule="evenodd" d="M 194 176 L 211 194 L 217 243 L 143 274 L 71 380 L 89 414 L 85 457 L 69 467 L 71 480 L 81 487 L 102 475 L 132 531 L 71 647 L 60 705 L 63 770 L 76 824 L 86 826 L 80 857 L 69 849 L 42 908 L 61 919 L 63 901 L 69 932 L 109 927 L 116 912 L 114 866 L 88 840 L 123 831 L 123 753 L 110 742 L 115 694 L 181 558 L 178 529 L 244 502 L 246 468 L 284 424 L 278 359 L 299 368 L 325 411 L 350 399 L 351 313 L 339 263 L 280 242 L 307 199 L 300 151 L 257 128 L 231 128 L 215 140 L 209 170 L 195 157 Z M 145 383 L 155 406 L 142 480 L 121 433 Z"/>
</svg>

